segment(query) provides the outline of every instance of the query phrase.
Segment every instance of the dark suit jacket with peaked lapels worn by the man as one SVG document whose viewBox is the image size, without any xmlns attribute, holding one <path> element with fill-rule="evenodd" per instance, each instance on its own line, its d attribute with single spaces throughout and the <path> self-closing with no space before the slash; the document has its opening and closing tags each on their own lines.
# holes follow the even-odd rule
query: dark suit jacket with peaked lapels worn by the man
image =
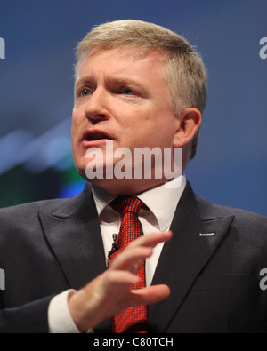
<svg viewBox="0 0 267 351">
<path fill-rule="evenodd" d="M 149 307 L 150 331 L 267 331 L 267 291 L 259 286 L 267 218 L 208 203 L 188 183 L 171 229 L 152 282 L 169 285 L 171 295 Z M 0 268 L 0 331 L 47 332 L 53 296 L 106 269 L 90 187 L 70 199 L 2 209 Z M 96 331 L 109 328 L 107 320 Z"/>
</svg>

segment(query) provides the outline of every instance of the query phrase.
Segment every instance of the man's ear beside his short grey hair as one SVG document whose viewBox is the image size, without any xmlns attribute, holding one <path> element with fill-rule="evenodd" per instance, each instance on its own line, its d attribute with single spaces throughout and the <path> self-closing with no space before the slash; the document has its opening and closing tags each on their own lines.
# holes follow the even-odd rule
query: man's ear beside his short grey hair
<svg viewBox="0 0 267 351">
<path fill-rule="evenodd" d="M 182 146 L 192 140 L 201 124 L 201 113 L 198 108 L 186 108 L 177 116 L 179 120 L 178 128 L 174 135 L 174 148 L 182 148 Z"/>
</svg>

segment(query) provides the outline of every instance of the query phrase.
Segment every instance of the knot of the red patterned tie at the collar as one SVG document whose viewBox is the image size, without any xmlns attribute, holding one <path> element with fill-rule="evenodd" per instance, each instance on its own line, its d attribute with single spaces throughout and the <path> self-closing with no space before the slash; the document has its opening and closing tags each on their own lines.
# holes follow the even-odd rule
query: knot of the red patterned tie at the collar
<svg viewBox="0 0 267 351">
<path fill-rule="evenodd" d="M 140 209 L 148 210 L 139 198 L 131 196 L 118 196 L 110 203 L 110 206 L 121 216 L 124 216 L 126 212 L 134 212 L 138 215 Z"/>
</svg>

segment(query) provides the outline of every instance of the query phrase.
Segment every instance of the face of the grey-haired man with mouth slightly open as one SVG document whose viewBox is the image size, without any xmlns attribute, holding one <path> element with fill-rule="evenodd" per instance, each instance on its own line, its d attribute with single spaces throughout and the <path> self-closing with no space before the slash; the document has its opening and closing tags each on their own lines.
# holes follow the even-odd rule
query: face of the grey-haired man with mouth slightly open
<svg viewBox="0 0 267 351">
<path fill-rule="evenodd" d="M 179 120 L 169 106 L 158 52 L 138 56 L 132 50 L 93 50 L 82 62 L 75 86 L 72 116 L 72 153 L 77 171 L 86 178 L 86 151 L 101 148 L 106 159 L 106 141 L 114 151 L 127 148 L 172 148 Z M 112 160 L 117 164 L 118 159 Z M 133 166 L 134 167 L 134 166 Z M 165 179 L 92 179 L 90 182 L 114 193 L 137 194 L 164 183 Z"/>
</svg>

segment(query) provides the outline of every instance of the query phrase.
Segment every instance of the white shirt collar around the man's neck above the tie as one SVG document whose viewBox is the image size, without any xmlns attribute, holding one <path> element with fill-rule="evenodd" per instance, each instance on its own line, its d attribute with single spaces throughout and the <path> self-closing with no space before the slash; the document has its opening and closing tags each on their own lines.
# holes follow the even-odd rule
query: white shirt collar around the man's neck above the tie
<svg viewBox="0 0 267 351">
<path fill-rule="evenodd" d="M 184 175 L 158 187 L 153 187 L 137 197 L 145 203 L 158 221 L 159 230 L 170 227 L 174 218 L 174 211 L 182 196 L 186 185 Z M 108 204 L 117 197 L 91 184 L 93 198 L 98 215 L 106 209 Z"/>
</svg>

